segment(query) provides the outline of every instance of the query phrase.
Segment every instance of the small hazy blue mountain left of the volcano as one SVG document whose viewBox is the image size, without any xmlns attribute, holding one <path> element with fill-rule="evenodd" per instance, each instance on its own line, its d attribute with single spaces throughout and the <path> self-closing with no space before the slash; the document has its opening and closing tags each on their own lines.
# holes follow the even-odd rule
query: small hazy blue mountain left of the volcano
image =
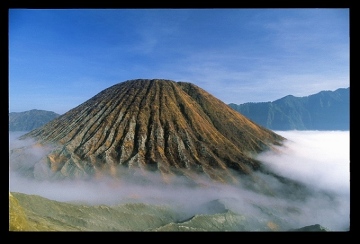
<svg viewBox="0 0 360 244">
<path fill-rule="evenodd" d="M 60 115 L 52 111 L 32 109 L 24 112 L 9 113 L 10 131 L 31 131 Z"/>
</svg>

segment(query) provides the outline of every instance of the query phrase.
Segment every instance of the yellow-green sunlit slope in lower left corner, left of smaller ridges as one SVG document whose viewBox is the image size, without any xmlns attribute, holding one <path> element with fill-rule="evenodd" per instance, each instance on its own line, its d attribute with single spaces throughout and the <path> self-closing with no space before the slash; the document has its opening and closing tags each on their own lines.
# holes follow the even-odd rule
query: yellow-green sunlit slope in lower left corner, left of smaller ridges
<svg viewBox="0 0 360 244">
<path fill-rule="evenodd" d="M 11 194 L 10 230 L 14 231 L 140 231 L 157 228 L 179 218 L 165 206 L 143 203 L 87 206 L 52 201 L 36 195 Z M 17 211 L 19 207 L 23 212 Z"/>
</svg>

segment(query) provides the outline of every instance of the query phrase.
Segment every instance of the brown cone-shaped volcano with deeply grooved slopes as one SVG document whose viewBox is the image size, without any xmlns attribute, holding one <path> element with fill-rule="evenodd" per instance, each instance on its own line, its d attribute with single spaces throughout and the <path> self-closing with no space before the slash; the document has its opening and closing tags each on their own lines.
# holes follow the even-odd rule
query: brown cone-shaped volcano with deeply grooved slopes
<svg viewBox="0 0 360 244">
<path fill-rule="evenodd" d="M 21 139 L 53 145 L 51 177 L 118 176 L 130 169 L 204 173 L 224 181 L 261 167 L 254 155 L 285 139 L 200 87 L 164 79 L 113 85 Z"/>
</svg>

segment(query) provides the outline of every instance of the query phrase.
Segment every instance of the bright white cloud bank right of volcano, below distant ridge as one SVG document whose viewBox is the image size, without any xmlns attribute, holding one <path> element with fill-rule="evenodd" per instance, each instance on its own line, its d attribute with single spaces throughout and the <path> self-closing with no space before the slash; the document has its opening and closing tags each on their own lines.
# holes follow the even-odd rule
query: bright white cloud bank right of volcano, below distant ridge
<svg viewBox="0 0 360 244">
<path fill-rule="evenodd" d="M 259 159 L 282 175 L 314 188 L 337 193 L 350 189 L 350 135 L 348 131 L 279 131 L 289 141 L 281 153 Z"/>
</svg>

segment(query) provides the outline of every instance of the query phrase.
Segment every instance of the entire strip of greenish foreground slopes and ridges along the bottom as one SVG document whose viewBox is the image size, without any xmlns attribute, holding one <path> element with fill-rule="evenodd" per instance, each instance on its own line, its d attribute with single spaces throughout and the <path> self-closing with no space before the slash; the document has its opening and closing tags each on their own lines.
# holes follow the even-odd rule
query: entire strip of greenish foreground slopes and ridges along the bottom
<svg viewBox="0 0 360 244">
<path fill-rule="evenodd" d="M 230 210 L 185 221 L 171 207 L 143 203 L 89 206 L 10 193 L 10 231 L 276 231 L 276 218 L 254 218 Z M 282 227 L 281 227 L 282 226 Z"/>
</svg>

